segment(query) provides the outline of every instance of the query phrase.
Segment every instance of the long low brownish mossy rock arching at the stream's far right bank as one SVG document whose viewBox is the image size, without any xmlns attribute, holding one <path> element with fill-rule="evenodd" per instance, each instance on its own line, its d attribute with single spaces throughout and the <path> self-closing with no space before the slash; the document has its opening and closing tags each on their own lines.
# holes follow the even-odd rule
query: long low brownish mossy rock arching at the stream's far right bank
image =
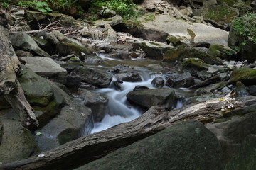
<svg viewBox="0 0 256 170">
<path fill-rule="evenodd" d="M 209 55 L 206 52 L 196 50 L 196 48 L 188 45 L 180 45 L 174 47 L 164 53 L 162 62 L 174 64 L 175 62 L 181 62 L 184 58 L 199 58 L 206 64 L 222 65 L 223 63 L 213 55 Z"/>
</svg>

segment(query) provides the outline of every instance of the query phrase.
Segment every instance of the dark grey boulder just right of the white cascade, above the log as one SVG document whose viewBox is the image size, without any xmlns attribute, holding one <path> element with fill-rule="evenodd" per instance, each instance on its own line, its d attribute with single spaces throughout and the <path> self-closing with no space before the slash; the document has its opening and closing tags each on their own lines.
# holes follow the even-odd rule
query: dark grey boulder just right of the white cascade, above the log
<svg viewBox="0 0 256 170">
<path fill-rule="evenodd" d="M 162 106 L 170 109 L 174 108 L 176 105 L 175 92 L 169 88 L 130 91 L 127 94 L 127 99 L 146 108 Z"/>
</svg>

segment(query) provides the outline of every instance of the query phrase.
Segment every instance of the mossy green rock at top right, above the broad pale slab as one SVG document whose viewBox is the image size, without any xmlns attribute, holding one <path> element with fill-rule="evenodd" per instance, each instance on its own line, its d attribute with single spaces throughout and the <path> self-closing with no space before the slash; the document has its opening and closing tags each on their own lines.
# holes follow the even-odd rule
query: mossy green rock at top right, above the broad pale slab
<svg viewBox="0 0 256 170">
<path fill-rule="evenodd" d="M 203 3 L 202 16 L 216 23 L 231 23 L 239 15 L 238 9 L 230 6 L 210 4 L 207 1 Z"/>
</svg>

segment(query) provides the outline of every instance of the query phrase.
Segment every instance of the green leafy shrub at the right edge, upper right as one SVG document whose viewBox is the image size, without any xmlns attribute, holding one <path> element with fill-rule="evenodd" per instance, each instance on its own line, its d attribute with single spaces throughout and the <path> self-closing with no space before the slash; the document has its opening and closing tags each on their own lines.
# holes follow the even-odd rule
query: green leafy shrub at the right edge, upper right
<svg viewBox="0 0 256 170">
<path fill-rule="evenodd" d="M 246 13 L 244 16 L 233 20 L 234 33 L 244 37 L 245 45 L 248 40 L 256 44 L 256 13 Z"/>
</svg>

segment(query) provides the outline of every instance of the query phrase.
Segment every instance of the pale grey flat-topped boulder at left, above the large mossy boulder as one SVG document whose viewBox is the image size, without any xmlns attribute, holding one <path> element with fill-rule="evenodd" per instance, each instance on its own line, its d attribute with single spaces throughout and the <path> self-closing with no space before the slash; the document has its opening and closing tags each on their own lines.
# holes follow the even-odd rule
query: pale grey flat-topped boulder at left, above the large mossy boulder
<svg viewBox="0 0 256 170">
<path fill-rule="evenodd" d="M 36 72 L 41 77 L 50 79 L 51 81 L 65 84 L 67 81 L 67 71 L 60 67 L 48 57 L 22 57 L 26 61 L 26 67 Z"/>
</svg>

